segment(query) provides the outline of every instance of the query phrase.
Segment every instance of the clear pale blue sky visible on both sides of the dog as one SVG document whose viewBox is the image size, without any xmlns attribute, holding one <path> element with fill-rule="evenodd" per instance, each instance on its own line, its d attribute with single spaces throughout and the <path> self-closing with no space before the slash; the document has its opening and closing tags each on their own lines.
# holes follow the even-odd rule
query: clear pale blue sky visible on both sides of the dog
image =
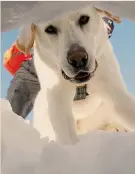
<svg viewBox="0 0 135 174">
<path fill-rule="evenodd" d="M 18 35 L 18 30 L 2 33 L 1 61 L 4 52 L 12 45 Z M 114 52 L 121 66 L 121 72 L 128 90 L 135 95 L 135 23 L 123 20 L 122 24 L 115 24 L 111 38 Z M 6 97 L 7 89 L 13 78 L 2 66 L 1 97 Z M 31 115 L 31 114 L 30 114 Z M 31 117 L 31 116 L 30 116 Z"/>
</svg>

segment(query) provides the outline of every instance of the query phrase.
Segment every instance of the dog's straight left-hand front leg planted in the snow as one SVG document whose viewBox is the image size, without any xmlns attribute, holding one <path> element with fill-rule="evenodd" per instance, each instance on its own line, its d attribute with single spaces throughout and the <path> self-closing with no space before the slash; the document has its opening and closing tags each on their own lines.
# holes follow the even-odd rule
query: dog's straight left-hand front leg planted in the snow
<svg viewBox="0 0 135 174">
<path fill-rule="evenodd" d="M 77 142 L 75 121 L 72 114 L 73 91 L 68 85 L 59 84 L 47 91 L 48 114 L 56 140 L 61 144 Z"/>
</svg>

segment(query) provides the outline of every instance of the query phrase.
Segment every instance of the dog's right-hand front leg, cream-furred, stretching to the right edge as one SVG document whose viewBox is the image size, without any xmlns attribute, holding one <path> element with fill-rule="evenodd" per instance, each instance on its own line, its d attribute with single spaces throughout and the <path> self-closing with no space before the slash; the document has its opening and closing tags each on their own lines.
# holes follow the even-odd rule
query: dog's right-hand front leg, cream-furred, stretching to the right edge
<svg viewBox="0 0 135 174">
<path fill-rule="evenodd" d="M 120 83 L 119 83 L 120 84 Z M 111 81 L 105 85 L 105 100 L 117 116 L 117 120 L 127 128 L 135 131 L 135 98 L 118 82 Z M 116 114 L 115 114 L 116 113 Z"/>
</svg>

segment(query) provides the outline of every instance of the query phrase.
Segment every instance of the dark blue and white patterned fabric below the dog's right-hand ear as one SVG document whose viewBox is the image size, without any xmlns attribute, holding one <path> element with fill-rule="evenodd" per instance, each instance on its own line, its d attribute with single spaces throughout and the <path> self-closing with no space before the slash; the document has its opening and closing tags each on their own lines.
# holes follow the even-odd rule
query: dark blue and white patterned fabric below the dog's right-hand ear
<svg viewBox="0 0 135 174">
<path fill-rule="evenodd" d="M 108 38 L 110 38 L 112 36 L 113 30 L 114 30 L 113 20 L 111 20 L 107 16 L 103 17 L 103 20 L 106 23 Z"/>
</svg>

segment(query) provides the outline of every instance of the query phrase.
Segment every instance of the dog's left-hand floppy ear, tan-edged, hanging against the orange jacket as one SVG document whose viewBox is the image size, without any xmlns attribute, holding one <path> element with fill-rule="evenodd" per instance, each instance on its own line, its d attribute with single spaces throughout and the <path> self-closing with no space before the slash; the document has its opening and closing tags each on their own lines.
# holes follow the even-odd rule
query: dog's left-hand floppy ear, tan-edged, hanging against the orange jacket
<svg viewBox="0 0 135 174">
<path fill-rule="evenodd" d="M 20 35 L 16 41 L 16 46 L 21 52 L 28 54 L 33 47 L 34 40 L 35 25 L 28 24 L 21 28 Z"/>
</svg>

